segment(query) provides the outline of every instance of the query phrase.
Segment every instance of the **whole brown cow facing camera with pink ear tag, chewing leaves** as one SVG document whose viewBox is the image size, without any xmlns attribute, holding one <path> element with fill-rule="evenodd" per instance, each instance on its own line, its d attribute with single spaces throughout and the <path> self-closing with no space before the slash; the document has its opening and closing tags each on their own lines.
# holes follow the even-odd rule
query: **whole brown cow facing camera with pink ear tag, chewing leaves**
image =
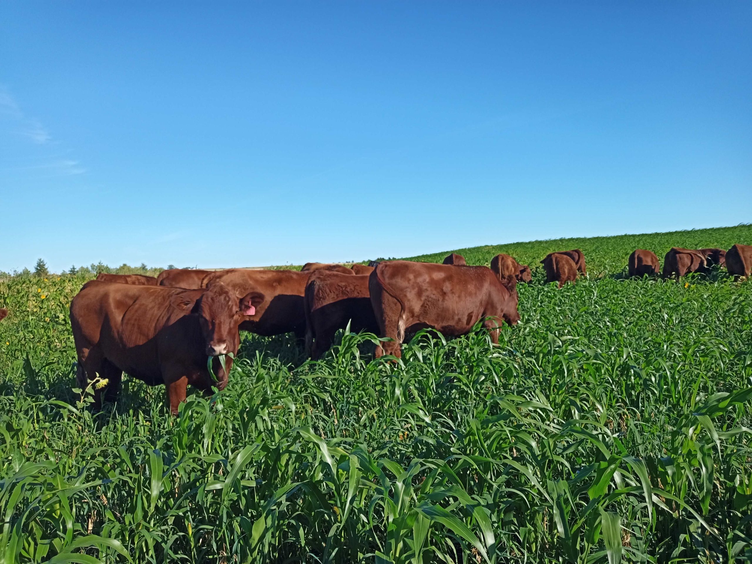
<svg viewBox="0 0 752 564">
<path fill-rule="evenodd" d="M 238 352 L 238 324 L 263 299 L 255 292 L 237 299 L 223 284 L 183 290 L 87 282 L 71 302 L 77 385 L 86 388 L 97 374 L 106 379 L 104 390 L 96 391 L 99 406 L 102 393 L 117 396 L 125 371 L 150 386 L 165 384 L 170 411 L 177 414 L 187 384 L 205 392 L 226 387 L 232 359 L 226 359 L 226 371 L 213 360 L 215 382 L 208 358 Z"/>
</svg>

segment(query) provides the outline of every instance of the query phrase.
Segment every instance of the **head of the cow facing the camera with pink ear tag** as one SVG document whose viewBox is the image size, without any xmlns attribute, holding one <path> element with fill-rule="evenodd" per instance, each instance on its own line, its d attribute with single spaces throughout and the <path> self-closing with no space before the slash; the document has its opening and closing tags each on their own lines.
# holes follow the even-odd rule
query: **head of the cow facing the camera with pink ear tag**
<svg viewBox="0 0 752 564">
<path fill-rule="evenodd" d="M 211 284 L 193 307 L 208 356 L 238 352 L 238 325 L 246 315 L 255 314 L 263 301 L 264 295 L 259 292 L 249 292 L 238 299 L 224 284 Z"/>
</svg>

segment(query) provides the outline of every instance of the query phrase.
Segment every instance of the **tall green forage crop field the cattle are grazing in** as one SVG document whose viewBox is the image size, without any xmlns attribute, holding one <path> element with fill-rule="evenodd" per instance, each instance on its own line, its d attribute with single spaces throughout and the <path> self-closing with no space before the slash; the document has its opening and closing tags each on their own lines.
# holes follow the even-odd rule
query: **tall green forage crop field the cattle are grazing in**
<svg viewBox="0 0 752 564">
<path fill-rule="evenodd" d="M 244 334 L 179 417 L 127 376 L 96 414 L 72 389 L 86 277 L 0 280 L 0 564 L 750 562 L 752 283 L 624 277 L 637 247 L 735 243 L 752 226 L 460 249 L 533 268 L 499 346 L 423 333 L 395 364 L 344 335 L 305 362 Z M 544 285 L 573 247 L 588 278 Z"/>
</svg>

